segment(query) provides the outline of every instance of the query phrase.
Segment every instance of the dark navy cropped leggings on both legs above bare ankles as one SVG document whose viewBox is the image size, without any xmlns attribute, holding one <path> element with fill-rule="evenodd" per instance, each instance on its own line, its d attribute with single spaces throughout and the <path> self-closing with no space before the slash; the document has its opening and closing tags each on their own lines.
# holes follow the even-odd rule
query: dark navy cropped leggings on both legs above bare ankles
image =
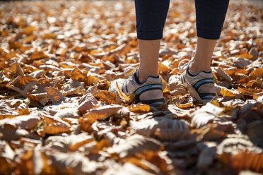
<svg viewBox="0 0 263 175">
<path fill-rule="evenodd" d="M 218 40 L 229 0 L 195 0 L 197 36 Z M 135 0 L 136 30 L 140 40 L 163 38 L 170 0 Z"/>
</svg>

